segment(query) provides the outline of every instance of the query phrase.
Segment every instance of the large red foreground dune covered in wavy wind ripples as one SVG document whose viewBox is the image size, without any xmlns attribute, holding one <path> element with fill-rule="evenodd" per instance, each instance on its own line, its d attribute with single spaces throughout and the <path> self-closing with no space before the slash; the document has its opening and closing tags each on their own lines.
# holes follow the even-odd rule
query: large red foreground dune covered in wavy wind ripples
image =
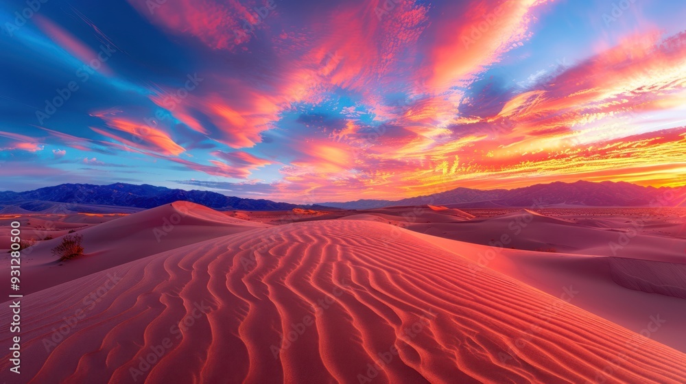
<svg viewBox="0 0 686 384">
<path fill-rule="evenodd" d="M 554 297 L 474 265 L 369 221 L 229 235 L 25 296 L 22 370 L 33 383 L 686 382 L 685 354 L 568 304 L 563 282 Z"/>
</svg>

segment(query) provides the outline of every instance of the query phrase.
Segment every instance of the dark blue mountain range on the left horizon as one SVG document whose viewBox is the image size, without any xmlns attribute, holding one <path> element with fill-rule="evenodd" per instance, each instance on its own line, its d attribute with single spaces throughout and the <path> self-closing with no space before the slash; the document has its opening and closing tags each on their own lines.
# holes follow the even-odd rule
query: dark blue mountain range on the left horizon
<svg viewBox="0 0 686 384">
<path fill-rule="evenodd" d="M 62 211 L 91 211 L 84 204 L 97 206 L 121 206 L 154 208 L 178 200 L 209 206 L 219 211 L 289 211 L 293 208 L 323 208 L 297 204 L 272 202 L 271 200 L 243 199 L 209 191 L 184 191 L 134 184 L 60 184 L 25 192 L 0 192 L 0 210 L 3 213 L 26 213 L 55 211 L 61 203 Z M 17 211 L 17 212 L 11 212 Z"/>
</svg>

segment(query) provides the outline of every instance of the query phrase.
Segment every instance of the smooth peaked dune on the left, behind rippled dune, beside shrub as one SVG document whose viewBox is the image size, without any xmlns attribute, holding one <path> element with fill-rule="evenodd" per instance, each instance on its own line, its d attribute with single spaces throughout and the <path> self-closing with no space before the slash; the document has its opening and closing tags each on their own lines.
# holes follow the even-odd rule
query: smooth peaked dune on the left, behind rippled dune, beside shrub
<svg viewBox="0 0 686 384">
<path fill-rule="evenodd" d="M 34 218 L 29 220 L 36 221 Z M 60 225 L 67 228 L 84 226 Z M 84 256 L 79 259 L 60 263 L 58 257 L 51 253 L 52 248 L 60 243 L 60 237 L 40 241 L 27 248 L 23 251 L 23 291 L 40 291 L 165 250 L 265 227 L 268 224 L 235 219 L 191 202 L 158 206 L 78 230 L 77 233 L 84 237 Z M 67 232 L 62 230 L 59 233 L 65 235 Z M 8 263 L 3 263 L 0 273 L 9 274 L 9 268 Z M 9 290 L 8 287 L 3 289 Z"/>
</svg>

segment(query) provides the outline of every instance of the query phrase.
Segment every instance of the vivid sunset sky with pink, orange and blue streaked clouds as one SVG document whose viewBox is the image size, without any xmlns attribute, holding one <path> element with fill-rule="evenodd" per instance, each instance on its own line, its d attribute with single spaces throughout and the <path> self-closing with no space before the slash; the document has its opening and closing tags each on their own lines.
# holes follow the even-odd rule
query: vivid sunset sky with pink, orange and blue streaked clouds
<svg viewBox="0 0 686 384">
<path fill-rule="evenodd" d="M 682 0 L 0 0 L 0 190 L 686 184 Z"/>
</svg>

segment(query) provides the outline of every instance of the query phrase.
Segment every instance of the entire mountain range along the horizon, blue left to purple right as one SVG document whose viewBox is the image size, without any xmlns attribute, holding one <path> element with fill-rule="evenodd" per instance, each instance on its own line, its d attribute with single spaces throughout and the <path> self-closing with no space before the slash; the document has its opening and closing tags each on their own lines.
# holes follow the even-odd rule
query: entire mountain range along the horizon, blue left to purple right
<svg viewBox="0 0 686 384">
<path fill-rule="evenodd" d="M 441 205 L 450 208 L 507 208 L 534 206 L 647 207 L 686 206 L 686 187 L 641 187 L 628 182 L 553 182 L 518 189 L 456 188 L 403 200 L 357 200 L 311 206 L 245 199 L 211 191 L 185 191 L 148 184 L 60 184 L 25 192 L 0 192 L 0 213 L 107 213 L 154 208 L 178 200 L 209 206 L 218 211 L 289 211 L 309 209 L 371 209 L 385 206 Z M 116 207 L 126 207 L 118 209 Z"/>
</svg>

